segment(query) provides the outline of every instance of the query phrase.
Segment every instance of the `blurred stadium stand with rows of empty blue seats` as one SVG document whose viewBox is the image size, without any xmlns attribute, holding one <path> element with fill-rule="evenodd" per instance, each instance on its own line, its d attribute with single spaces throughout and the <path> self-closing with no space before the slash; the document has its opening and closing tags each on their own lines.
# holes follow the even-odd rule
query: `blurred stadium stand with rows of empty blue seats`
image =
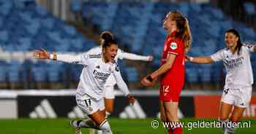
<svg viewBox="0 0 256 134">
<path fill-rule="evenodd" d="M 252 5 L 245 5 L 252 7 Z M 128 52 L 140 55 L 153 55 L 152 68 L 160 63 L 165 31 L 162 20 L 166 12 L 178 10 L 187 16 L 192 25 L 192 50 L 189 55 L 211 55 L 225 47 L 223 35 L 227 28 L 236 28 L 241 32 L 244 41 L 253 41 L 255 31 L 243 23 L 237 23 L 223 14 L 222 10 L 210 4 L 165 3 L 165 2 L 97 2 L 73 1 L 72 12 L 78 13 L 100 31 L 111 31 L 120 40 L 121 47 Z M 57 52 L 84 52 L 96 46 L 92 39 L 83 36 L 74 26 L 53 17 L 44 7 L 33 1 L 0 1 L 0 44 L 4 52 L 10 55 L 20 52 L 44 48 Z M 249 9 L 248 12 L 252 12 Z M 1 52 L 1 59 L 8 59 L 8 54 Z M 29 55 L 23 54 L 26 59 Z M 252 56 L 252 63 L 255 63 Z M 78 82 L 80 66 L 41 63 L 42 61 L 1 60 L 1 82 L 63 82 L 67 76 L 69 81 Z M 5 68 L 8 66 L 10 68 Z M 220 82 L 223 81 L 220 64 L 197 66 L 187 64 L 187 82 Z M 45 66 L 49 68 L 46 70 Z M 61 68 L 61 69 L 56 69 Z M 255 66 L 254 66 L 255 68 Z M 56 71 L 58 70 L 58 71 Z M 67 71 L 69 70 L 69 71 Z M 254 69 L 255 71 L 256 69 Z M 136 82 L 140 78 L 134 67 L 124 65 L 124 79 Z M 128 73 L 129 72 L 129 73 Z M 33 86 L 32 86 L 33 87 Z"/>
</svg>

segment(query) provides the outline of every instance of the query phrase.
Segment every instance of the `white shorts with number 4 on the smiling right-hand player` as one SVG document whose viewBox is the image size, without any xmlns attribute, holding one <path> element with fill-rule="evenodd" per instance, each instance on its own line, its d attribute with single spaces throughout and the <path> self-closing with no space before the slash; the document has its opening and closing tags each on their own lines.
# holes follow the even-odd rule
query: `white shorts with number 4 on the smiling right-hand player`
<svg viewBox="0 0 256 134">
<path fill-rule="evenodd" d="M 252 87 L 243 87 L 239 89 L 224 89 L 222 93 L 222 102 L 230 105 L 246 108 L 252 98 Z"/>
</svg>

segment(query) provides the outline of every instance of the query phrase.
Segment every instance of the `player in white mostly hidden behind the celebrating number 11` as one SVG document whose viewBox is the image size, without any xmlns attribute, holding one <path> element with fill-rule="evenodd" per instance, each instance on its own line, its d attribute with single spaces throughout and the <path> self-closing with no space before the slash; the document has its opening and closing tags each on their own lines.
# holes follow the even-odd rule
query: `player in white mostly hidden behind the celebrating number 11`
<svg viewBox="0 0 256 134">
<path fill-rule="evenodd" d="M 104 31 L 102 32 L 102 34 L 104 33 L 108 33 L 109 38 L 113 39 L 113 34 L 110 33 L 109 31 Z M 104 40 L 102 40 L 102 43 L 104 42 Z M 102 45 L 99 47 L 94 47 L 91 50 L 89 50 L 88 52 L 86 52 L 86 54 L 91 55 L 92 53 L 95 52 L 101 52 L 102 51 Z M 117 60 L 120 59 L 127 59 L 127 60 L 143 60 L 143 61 L 152 61 L 153 57 L 151 55 L 149 56 L 141 56 L 141 55 L 135 55 L 132 53 L 128 53 L 128 52 L 124 52 L 123 50 L 118 48 L 117 51 L 117 55 L 115 57 L 115 61 L 117 63 Z M 105 84 L 105 92 L 104 92 L 104 98 L 105 98 L 105 110 L 106 110 L 106 115 L 108 117 L 108 115 L 110 115 L 111 113 L 113 113 L 113 109 L 114 109 L 114 99 L 115 99 L 115 92 L 114 92 L 114 86 L 116 84 L 116 79 L 113 77 L 113 75 L 111 74 Z"/>
</svg>

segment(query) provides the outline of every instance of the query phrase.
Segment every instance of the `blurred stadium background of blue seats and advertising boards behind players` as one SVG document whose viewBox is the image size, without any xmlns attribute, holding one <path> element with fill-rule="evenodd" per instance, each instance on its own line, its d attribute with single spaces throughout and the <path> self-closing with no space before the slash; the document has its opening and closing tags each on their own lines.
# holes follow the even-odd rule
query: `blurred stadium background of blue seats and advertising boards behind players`
<svg viewBox="0 0 256 134">
<path fill-rule="evenodd" d="M 0 109 L 5 109 L 0 111 L 1 118 L 83 117 L 74 97 L 82 66 L 36 60 L 31 57 L 33 50 L 75 55 L 98 46 L 99 34 L 110 31 L 125 52 L 153 55 L 152 63 L 118 60 L 143 114 L 138 109 L 133 117 L 129 110 L 125 114 L 128 103 L 117 91 L 113 116 L 145 118 L 159 115 L 159 84 L 146 88 L 140 79 L 159 68 L 167 12 L 176 10 L 188 18 L 193 37 L 189 55 L 211 55 L 224 48 L 229 28 L 239 31 L 242 42 L 256 44 L 255 0 L 0 0 L 0 9 Z M 255 54 L 251 61 L 256 74 Z M 222 63 L 186 63 L 180 117 L 217 117 L 224 82 Z M 69 106 L 61 107 L 63 102 Z M 52 106 L 55 114 L 48 115 L 44 105 Z M 254 95 L 244 116 L 255 117 L 255 110 Z"/>
</svg>

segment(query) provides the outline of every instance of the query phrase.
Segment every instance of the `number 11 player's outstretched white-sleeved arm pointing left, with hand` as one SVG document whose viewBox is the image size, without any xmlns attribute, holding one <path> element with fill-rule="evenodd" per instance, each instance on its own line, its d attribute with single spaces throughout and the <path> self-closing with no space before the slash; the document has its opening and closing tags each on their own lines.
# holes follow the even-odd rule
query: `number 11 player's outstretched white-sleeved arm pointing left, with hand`
<svg viewBox="0 0 256 134">
<path fill-rule="evenodd" d="M 81 55 L 67 55 L 67 54 L 50 54 L 46 50 L 36 50 L 33 52 L 35 58 L 59 60 L 66 63 L 82 64 Z"/>
</svg>

